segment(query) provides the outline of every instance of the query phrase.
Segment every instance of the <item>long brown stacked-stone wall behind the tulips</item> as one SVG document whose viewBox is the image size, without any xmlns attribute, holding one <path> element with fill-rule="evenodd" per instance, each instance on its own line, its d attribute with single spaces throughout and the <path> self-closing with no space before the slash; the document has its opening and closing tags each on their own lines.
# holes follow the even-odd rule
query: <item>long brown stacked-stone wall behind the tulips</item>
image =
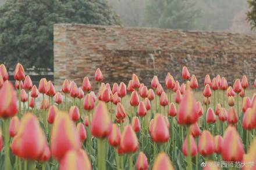
<svg viewBox="0 0 256 170">
<path fill-rule="evenodd" d="M 136 73 L 144 84 L 153 75 L 163 82 L 170 72 L 181 78 L 187 66 L 202 85 L 205 74 L 221 74 L 229 84 L 247 75 L 256 78 L 256 35 L 197 32 L 160 28 L 123 28 L 84 24 L 55 24 L 54 79 L 81 85 L 84 76 L 93 84 L 99 67 L 104 82 L 127 82 Z"/>
</svg>

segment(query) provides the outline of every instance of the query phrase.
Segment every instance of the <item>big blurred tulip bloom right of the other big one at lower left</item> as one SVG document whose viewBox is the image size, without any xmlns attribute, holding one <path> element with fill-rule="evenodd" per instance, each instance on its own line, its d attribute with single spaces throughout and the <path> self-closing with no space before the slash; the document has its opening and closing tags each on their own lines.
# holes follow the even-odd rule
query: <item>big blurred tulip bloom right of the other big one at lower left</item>
<svg viewBox="0 0 256 170">
<path fill-rule="evenodd" d="M 52 126 L 51 153 L 59 161 L 67 151 L 81 148 L 79 135 L 72 120 L 66 113 L 58 113 Z"/>
</svg>

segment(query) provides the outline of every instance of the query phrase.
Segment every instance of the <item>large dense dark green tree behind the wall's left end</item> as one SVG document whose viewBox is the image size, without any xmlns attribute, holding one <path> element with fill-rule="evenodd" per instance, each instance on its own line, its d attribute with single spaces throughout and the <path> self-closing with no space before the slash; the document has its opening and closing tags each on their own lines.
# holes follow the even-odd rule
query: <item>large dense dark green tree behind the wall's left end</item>
<svg viewBox="0 0 256 170">
<path fill-rule="evenodd" d="M 9 0 L 0 7 L 0 63 L 53 68 L 55 23 L 119 24 L 105 0 Z"/>
</svg>

